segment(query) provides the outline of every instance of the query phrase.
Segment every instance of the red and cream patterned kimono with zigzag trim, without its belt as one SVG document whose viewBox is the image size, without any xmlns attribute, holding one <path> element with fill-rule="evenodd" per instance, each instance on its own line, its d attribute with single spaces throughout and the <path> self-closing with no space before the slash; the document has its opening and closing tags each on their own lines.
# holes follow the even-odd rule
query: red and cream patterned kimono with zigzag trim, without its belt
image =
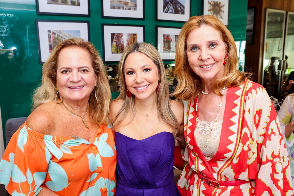
<svg viewBox="0 0 294 196">
<path fill-rule="evenodd" d="M 293 195 L 280 123 L 263 86 L 246 80 L 228 88 L 220 145 L 209 161 L 194 138 L 196 101 L 184 102 L 186 165 L 178 180 L 182 195 Z M 201 181 L 196 172 L 219 181 L 249 182 L 214 187 Z"/>
</svg>

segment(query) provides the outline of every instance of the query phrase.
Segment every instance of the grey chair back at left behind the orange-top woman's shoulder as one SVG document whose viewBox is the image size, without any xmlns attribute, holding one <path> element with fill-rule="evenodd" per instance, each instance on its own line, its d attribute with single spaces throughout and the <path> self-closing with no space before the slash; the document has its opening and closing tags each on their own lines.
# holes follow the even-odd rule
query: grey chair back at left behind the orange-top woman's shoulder
<svg viewBox="0 0 294 196">
<path fill-rule="evenodd" d="M 20 118 L 9 118 L 5 124 L 5 138 L 6 138 L 6 146 L 10 141 L 11 136 L 18 130 L 18 128 L 24 124 L 27 117 Z"/>
</svg>

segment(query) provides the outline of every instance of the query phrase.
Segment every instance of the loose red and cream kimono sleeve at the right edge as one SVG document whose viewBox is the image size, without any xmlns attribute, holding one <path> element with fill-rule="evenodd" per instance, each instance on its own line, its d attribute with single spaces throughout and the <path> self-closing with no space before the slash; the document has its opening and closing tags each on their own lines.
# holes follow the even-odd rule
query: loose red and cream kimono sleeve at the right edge
<svg viewBox="0 0 294 196">
<path fill-rule="evenodd" d="M 293 195 L 289 157 L 277 113 L 265 89 L 260 85 L 253 89 L 246 100 L 244 123 L 251 130 L 248 171 L 255 179 L 254 195 Z"/>
</svg>

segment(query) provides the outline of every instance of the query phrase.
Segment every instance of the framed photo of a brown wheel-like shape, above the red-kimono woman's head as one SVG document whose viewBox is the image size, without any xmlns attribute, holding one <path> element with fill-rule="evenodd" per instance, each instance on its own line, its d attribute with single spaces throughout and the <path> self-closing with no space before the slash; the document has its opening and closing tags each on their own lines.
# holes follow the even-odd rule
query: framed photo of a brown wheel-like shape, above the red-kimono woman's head
<svg viewBox="0 0 294 196">
<path fill-rule="evenodd" d="M 228 26 L 229 7 L 229 0 L 203 0 L 203 15 L 215 16 Z"/>
</svg>

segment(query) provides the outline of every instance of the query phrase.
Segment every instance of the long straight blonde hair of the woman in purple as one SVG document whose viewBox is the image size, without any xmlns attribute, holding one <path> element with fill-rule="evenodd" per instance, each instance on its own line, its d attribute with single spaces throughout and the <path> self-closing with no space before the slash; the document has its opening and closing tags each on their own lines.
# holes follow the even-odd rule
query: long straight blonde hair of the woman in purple
<svg viewBox="0 0 294 196">
<path fill-rule="evenodd" d="M 136 112 L 135 96 L 132 95 L 131 97 L 128 97 L 126 95 L 127 86 L 126 86 L 125 73 L 124 73 L 126 58 L 128 57 L 130 53 L 133 53 L 133 52 L 140 52 L 145 54 L 153 61 L 153 63 L 158 68 L 158 73 L 160 77 L 159 91 L 156 92 L 158 118 L 162 119 L 165 123 L 173 127 L 173 135 L 174 137 L 176 137 L 179 130 L 179 125 L 170 107 L 171 101 L 169 99 L 169 87 L 168 87 L 164 65 L 157 49 L 154 46 L 152 46 L 150 43 L 134 43 L 126 47 L 122 53 L 121 60 L 119 62 L 119 67 L 118 67 L 118 75 L 119 75 L 119 80 L 121 82 L 121 93 L 119 94 L 118 98 L 116 98 L 116 100 L 118 99 L 124 100 L 124 103 L 114 119 L 113 126 L 121 123 L 121 121 L 127 114 L 131 113 L 131 117 L 132 117 L 131 120 L 133 120 L 133 118 L 135 117 L 135 112 Z"/>
</svg>

